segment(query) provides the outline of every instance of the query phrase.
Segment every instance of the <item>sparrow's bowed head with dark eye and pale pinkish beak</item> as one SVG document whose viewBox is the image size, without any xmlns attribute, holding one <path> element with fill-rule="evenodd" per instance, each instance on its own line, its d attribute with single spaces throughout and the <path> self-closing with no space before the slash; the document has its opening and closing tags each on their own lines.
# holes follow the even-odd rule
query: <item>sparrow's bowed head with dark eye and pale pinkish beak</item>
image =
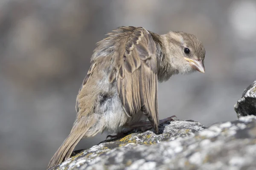
<svg viewBox="0 0 256 170">
<path fill-rule="evenodd" d="M 164 35 L 166 54 L 173 69 L 181 74 L 205 72 L 205 49 L 193 34 L 170 31 Z"/>
</svg>

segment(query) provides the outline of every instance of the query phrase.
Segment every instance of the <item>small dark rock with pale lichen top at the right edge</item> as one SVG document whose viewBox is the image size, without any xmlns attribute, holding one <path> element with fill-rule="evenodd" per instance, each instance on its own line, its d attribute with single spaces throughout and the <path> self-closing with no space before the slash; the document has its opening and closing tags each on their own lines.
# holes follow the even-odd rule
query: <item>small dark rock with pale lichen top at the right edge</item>
<svg viewBox="0 0 256 170">
<path fill-rule="evenodd" d="M 238 118 L 247 115 L 256 116 L 256 80 L 244 90 L 234 107 Z"/>
</svg>

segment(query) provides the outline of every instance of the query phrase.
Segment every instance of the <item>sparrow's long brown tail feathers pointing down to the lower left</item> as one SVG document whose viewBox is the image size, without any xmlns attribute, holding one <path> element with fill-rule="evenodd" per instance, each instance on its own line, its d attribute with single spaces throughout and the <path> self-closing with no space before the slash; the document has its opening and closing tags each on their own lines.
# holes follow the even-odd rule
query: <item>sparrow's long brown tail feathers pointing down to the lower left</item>
<svg viewBox="0 0 256 170">
<path fill-rule="evenodd" d="M 60 164 L 63 160 L 69 159 L 71 153 L 73 152 L 76 144 L 85 136 L 87 130 L 91 127 L 90 125 L 84 125 L 85 122 L 75 122 L 69 136 L 65 139 L 65 141 L 58 148 L 56 153 L 52 156 L 47 169 Z M 81 125 L 83 124 L 83 125 Z"/>
</svg>

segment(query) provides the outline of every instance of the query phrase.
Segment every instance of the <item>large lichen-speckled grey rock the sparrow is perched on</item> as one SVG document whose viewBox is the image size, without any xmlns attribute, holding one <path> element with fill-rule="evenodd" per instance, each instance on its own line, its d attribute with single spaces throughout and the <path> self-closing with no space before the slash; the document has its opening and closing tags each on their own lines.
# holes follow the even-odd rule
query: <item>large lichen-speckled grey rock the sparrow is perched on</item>
<svg viewBox="0 0 256 170">
<path fill-rule="evenodd" d="M 254 170 L 256 116 L 205 129 L 194 121 L 173 121 L 152 131 L 107 140 L 64 161 L 58 170 Z"/>
</svg>

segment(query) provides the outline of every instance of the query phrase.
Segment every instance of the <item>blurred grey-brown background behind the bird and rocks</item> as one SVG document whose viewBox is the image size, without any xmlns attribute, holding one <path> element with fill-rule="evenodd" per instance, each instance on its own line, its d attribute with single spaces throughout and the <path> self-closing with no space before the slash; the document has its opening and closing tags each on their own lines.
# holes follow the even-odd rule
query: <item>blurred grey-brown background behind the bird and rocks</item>
<svg viewBox="0 0 256 170">
<path fill-rule="evenodd" d="M 255 0 L 0 0 L 1 170 L 46 169 L 75 120 L 95 43 L 118 26 L 185 31 L 204 44 L 205 74 L 159 85 L 161 119 L 236 119 L 233 105 L 256 79 Z"/>
</svg>

